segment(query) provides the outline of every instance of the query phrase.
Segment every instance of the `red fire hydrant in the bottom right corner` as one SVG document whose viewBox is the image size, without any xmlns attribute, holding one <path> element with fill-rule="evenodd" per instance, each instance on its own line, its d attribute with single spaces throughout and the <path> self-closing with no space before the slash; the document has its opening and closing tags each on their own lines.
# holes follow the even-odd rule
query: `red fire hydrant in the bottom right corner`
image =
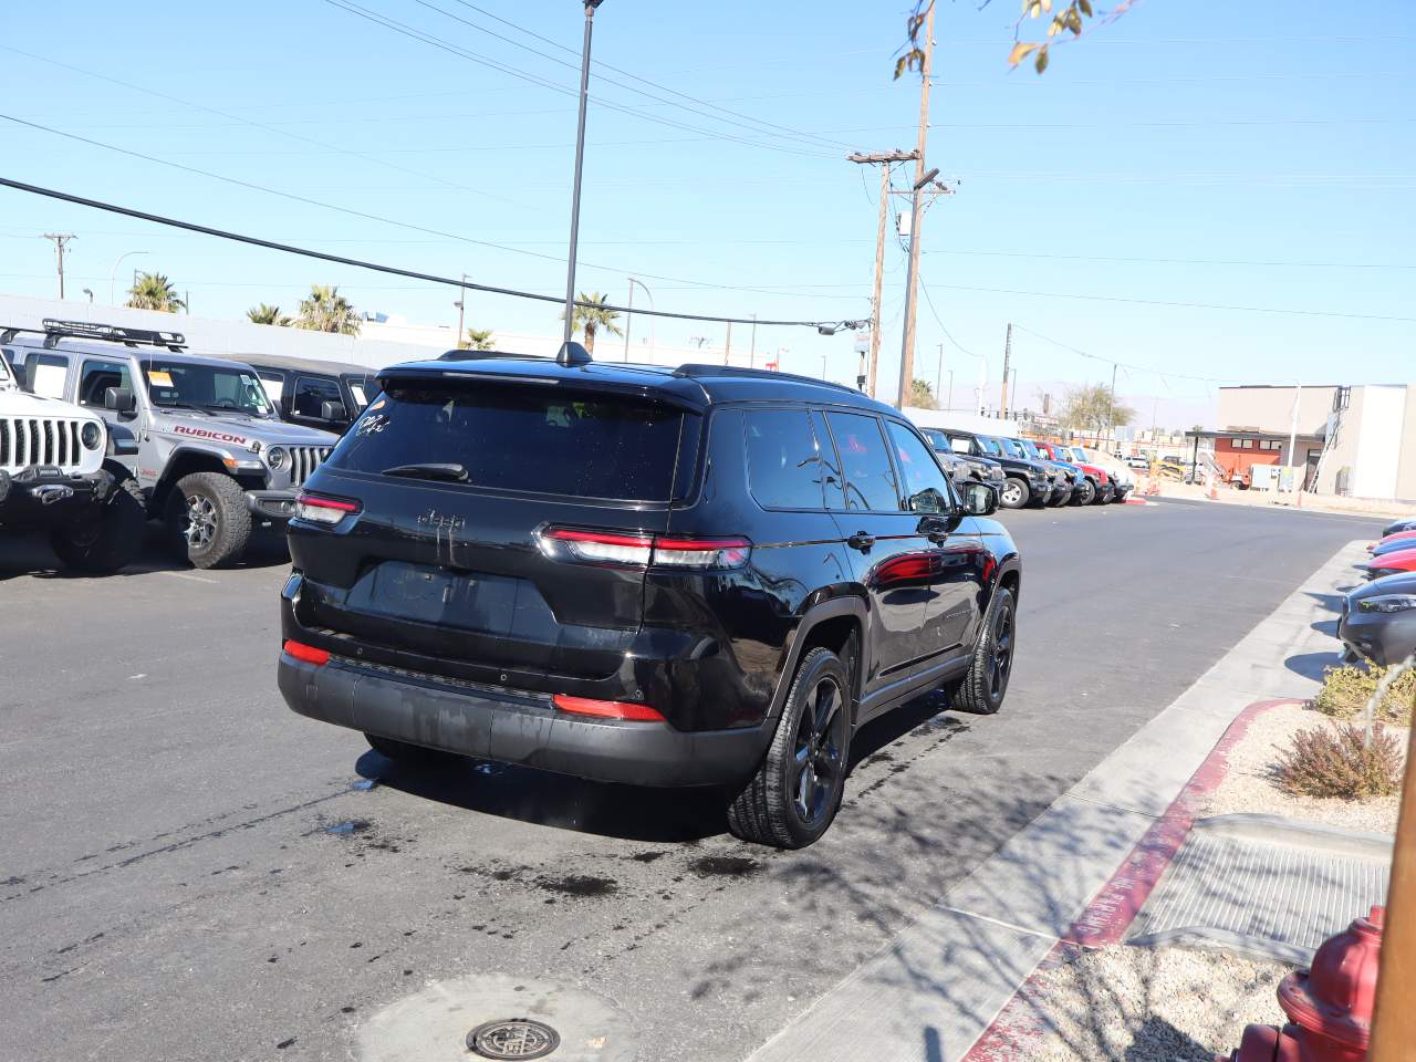
<svg viewBox="0 0 1416 1062">
<path fill-rule="evenodd" d="M 1279 1005 L 1289 1024 L 1249 1025 L 1229 1062 L 1362 1062 L 1372 1035 L 1385 913 L 1372 908 L 1323 942 L 1311 970 L 1284 977 Z"/>
</svg>

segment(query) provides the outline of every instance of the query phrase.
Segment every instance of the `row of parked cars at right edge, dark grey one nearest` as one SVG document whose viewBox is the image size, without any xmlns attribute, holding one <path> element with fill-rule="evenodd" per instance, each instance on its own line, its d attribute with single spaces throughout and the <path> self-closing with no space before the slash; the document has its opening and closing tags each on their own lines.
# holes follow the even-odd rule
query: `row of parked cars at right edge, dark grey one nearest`
<svg viewBox="0 0 1416 1062">
<path fill-rule="evenodd" d="M 1388 524 L 1368 551 L 1369 582 L 1344 598 L 1338 637 L 1348 658 L 1388 667 L 1416 653 L 1416 517 Z"/>
</svg>

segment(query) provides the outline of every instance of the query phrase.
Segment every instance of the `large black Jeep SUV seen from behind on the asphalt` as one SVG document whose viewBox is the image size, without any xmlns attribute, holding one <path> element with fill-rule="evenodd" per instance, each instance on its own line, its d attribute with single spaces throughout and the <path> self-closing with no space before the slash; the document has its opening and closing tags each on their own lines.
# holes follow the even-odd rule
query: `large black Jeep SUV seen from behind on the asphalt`
<svg viewBox="0 0 1416 1062">
<path fill-rule="evenodd" d="M 379 382 L 289 525 L 296 712 L 405 763 L 719 786 L 738 837 L 796 848 L 867 719 L 1003 704 L 1018 552 L 895 409 L 573 353 Z"/>
</svg>

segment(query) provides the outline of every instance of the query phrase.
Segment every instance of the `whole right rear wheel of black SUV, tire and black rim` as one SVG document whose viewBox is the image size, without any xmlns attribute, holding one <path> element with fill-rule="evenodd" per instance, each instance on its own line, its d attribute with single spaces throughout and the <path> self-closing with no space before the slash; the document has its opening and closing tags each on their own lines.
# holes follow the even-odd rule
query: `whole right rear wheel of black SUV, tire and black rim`
<svg viewBox="0 0 1416 1062">
<path fill-rule="evenodd" d="M 728 806 L 733 837 L 804 848 L 827 831 L 845 792 L 850 688 L 850 673 L 831 650 L 818 646 L 801 658 L 767 755 Z"/>
</svg>

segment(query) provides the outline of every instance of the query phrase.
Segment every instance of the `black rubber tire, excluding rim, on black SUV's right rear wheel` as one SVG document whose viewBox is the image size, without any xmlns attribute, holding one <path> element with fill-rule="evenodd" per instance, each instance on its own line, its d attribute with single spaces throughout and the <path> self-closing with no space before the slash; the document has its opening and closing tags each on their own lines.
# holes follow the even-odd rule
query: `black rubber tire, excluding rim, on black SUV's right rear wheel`
<svg viewBox="0 0 1416 1062">
<path fill-rule="evenodd" d="M 835 680 L 840 690 L 841 702 L 837 712 L 844 716 L 841 726 L 844 738 L 838 749 L 840 769 L 833 780 L 824 813 L 817 821 L 804 823 L 789 792 L 793 753 L 801 714 L 814 707 L 811 695 L 823 680 L 830 678 Z M 804 848 L 827 831 L 845 792 L 845 765 L 850 759 L 851 741 L 850 690 L 850 673 L 831 650 L 817 646 L 801 658 L 786 704 L 782 705 L 782 718 L 777 719 L 767 755 L 728 806 L 728 830 L 733 837 L 775 848 Z"/>
</svg>

